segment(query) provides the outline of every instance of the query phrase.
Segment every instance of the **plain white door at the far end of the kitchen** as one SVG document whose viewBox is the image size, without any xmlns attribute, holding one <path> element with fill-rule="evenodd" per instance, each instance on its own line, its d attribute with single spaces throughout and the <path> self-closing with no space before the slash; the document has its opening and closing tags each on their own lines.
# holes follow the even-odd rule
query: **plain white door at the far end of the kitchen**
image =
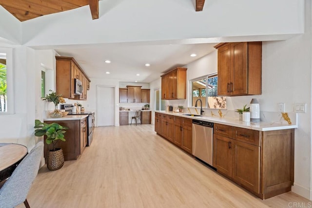
<svg viewBox="0 0 312 208">
<path fill-rule="evenodd" d="M 115 124 L 115 87 L 97 86 L 97 126 Z"/>
</svg>

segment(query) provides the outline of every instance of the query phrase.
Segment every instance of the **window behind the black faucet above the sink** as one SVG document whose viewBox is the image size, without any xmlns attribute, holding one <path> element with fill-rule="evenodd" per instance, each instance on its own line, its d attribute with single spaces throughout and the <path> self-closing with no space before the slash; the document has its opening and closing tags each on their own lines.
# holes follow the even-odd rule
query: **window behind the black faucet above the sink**
<svg viewBox="0 0 312 208">
<path fill-rule="evenodd" d="M 199 99 L 202 102 L 202 107 L 225 109 L 226 97 L 218 96 L 218 76 L 216 73 L 196 78 L 191 81 L 192 86 L 192 106 L 194 107 L 196 101 Z M 197 106 L 199 106 L 197 101 Z"/>
</svg>

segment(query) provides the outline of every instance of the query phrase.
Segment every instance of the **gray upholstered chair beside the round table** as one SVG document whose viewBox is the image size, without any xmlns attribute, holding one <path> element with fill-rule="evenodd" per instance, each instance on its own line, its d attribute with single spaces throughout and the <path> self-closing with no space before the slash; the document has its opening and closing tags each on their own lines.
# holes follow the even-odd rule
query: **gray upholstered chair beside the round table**
<svg viewBox="0 0 312 208">
<path fill-rule="evenodd" d="M 28 191 L 35 180 L 43 152 L 43 142 L 39 142 L 16 167 L 10 178 L 0 189 L 0 208 L 14 208 L 26 200 Z"/>
</svg>

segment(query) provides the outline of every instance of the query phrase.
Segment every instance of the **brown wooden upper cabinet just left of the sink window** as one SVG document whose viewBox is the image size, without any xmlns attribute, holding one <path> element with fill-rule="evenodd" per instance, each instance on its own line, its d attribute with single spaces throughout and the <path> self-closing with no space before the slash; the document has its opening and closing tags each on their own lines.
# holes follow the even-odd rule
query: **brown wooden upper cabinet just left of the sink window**
<svg viewBox="0 0 312 208">
<path fill-rule="evenodd" d="M 161 76 L 161 99 L 186 99 L 186 70 L 177 67 Z"/>
</svg>

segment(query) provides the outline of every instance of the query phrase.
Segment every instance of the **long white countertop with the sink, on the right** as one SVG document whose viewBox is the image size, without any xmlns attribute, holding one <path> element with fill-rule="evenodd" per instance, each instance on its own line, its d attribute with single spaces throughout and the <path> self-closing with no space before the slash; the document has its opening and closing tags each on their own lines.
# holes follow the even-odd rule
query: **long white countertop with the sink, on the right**
<svg viewBox="0 0 312 208">
<path fill-rule="evenodd" d="M 298 128 L 296 122 L 294 122 L 292 125 L 289 125 L 285 121 L 274 121 L 274 122 L 243 122 L 239 121 L 238 118 L 232 118 L 232 117 L 220 117 L 220 116 L 209 116 L 209 115 L 203 115 L 203 116 L 186 116 L 183 114 L 188 113 L 176 113 L 176 112 L 166 112 L 166 111 L 155 111 L 158 113 L 165 113 L 168 115 L 174 115 L 174 116 L 180 116 L 184 118 L 190 118 L 200 121 L 208 121 L 213 122 L 217 124 L 224 124 L 224 125 L 232 125 L 236 127 L 242 127 L 242 128 L 249 128 L 259 131 L 272 131 L 272 130 L 281 130 L 281 129 L 291 129 L 291 128 Z"/>
</svg>

